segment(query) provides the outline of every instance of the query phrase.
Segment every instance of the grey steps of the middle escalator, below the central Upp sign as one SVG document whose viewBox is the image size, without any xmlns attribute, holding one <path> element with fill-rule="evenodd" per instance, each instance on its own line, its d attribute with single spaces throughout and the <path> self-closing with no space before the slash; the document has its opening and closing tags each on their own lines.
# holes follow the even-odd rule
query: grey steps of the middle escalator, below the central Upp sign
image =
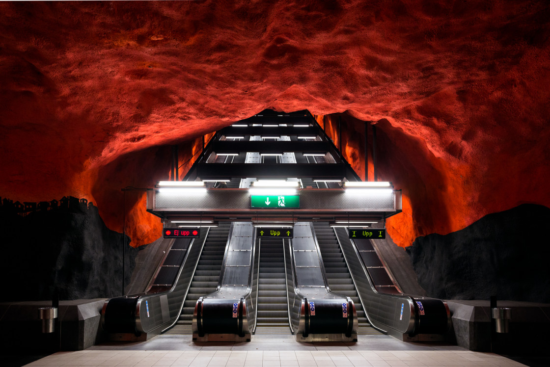
<svg viewBox="0 0 550 367">
<path fill-rule="evenodd" d="M 258 239 L 260 273 L 258 282 L 258 313 L 256 336 L 288 335 L 287 287 L 284 283 L 283 240 Z"/>
</svg>

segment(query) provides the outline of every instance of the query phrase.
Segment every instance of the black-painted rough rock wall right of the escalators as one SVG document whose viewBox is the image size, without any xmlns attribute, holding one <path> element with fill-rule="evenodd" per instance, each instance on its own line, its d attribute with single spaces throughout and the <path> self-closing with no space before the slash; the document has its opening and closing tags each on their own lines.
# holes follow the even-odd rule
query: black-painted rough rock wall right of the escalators
<svg viewBox="0 0 550 367">
<path fill-rule="evenodd" d="M 522 204 L 407 247 L 428 297 L 550 303 L 550 209 Z"/>
</svg>

